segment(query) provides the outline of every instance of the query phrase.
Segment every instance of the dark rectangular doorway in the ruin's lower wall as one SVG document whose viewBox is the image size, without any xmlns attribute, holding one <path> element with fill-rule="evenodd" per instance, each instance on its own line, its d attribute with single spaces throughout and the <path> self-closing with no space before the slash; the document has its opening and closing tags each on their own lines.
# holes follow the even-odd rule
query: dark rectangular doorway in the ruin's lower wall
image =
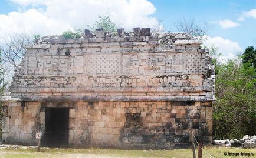
<svg viewBox="0 0 256 158">
<path fill-rule="evenodd" d="M 45 146 L 68 145 L 68 108 L 45 109 Z"/>
</svg>

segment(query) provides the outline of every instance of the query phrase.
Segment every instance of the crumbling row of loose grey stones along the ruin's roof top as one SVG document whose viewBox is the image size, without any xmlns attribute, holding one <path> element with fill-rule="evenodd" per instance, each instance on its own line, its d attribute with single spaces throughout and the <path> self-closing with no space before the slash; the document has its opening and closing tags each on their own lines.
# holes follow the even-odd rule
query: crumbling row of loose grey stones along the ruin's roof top
<svg viewBox="0 0 256 158">
<path fill-rule="evenodd" d="M 201 40 L 190 36 L 187 33 L 151 33 L 150 28 L 133 28 L 133 32 L 124 32 L 124 29 L 117 29 L 117 32 L 105 32 L 102 28 L 95 32 L 85 29 L 81 38 L 66 39 L 61 35 L 44 36 L 35 39 L 33 45 L 55 44 L 55 43 L 99 43 L 99 42 L 143 42 L 151 41 L 157 45 L 191 45 L 201 44 Z"/>
</svg>

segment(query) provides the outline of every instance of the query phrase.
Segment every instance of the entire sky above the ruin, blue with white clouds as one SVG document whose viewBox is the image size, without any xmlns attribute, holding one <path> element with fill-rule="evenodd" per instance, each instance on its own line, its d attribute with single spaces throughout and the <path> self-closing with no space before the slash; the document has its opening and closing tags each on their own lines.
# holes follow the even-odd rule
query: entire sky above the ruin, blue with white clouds
<svg viewBox="0 0 256 158">
<path fill-rule="evenodd" d="M 174 23 L 180 18 L 206 22 L 206 44 L 218 47 L 227 58 L 256 42 L 256 0 L 0 0 L 0 37 L 86 28 L 106 11 L 125 29 L 162 21 L 166 31 L 176 32 Z"/>
</svg>

